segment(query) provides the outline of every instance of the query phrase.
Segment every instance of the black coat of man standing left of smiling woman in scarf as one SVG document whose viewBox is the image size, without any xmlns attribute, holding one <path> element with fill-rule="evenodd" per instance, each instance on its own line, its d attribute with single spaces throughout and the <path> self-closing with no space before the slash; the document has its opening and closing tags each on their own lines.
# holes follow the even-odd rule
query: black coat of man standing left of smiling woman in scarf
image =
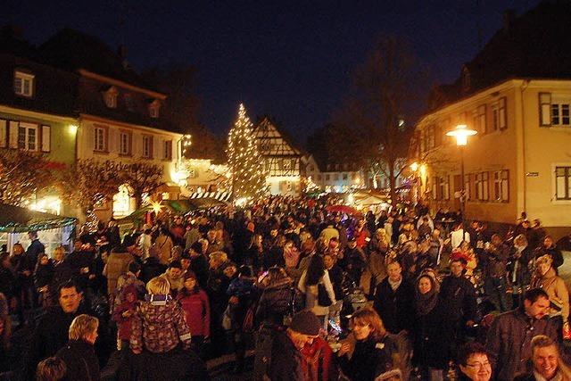
<svg viewBox="0 0 571 381">
<path fill-rule="evenodd" d="M 414 286 L 402 278 L 401 286 L 393 291 L 385 277 L 375 291 L 373 306 L 385 323 L 385 328 L 396 335 L 402 329 L 410 331 L 414 319 Z"/>
</svg>

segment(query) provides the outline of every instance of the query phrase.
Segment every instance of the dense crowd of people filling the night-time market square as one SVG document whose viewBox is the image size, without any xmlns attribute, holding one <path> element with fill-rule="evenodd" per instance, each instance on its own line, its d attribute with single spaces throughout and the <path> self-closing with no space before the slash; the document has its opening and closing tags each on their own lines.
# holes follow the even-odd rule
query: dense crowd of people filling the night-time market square
<svg viewBox="0 0 571 381">
<path fill-rule="evenodd" d="M 255 380 L 571 379 L 563 255 L 539 221 L 334 203 L 165 213 L 124 235 L 110 221 L 70 253 L 30 232 L 0 253 L 0 372 L 208 379 L 233 353 Z"/>
</svg>

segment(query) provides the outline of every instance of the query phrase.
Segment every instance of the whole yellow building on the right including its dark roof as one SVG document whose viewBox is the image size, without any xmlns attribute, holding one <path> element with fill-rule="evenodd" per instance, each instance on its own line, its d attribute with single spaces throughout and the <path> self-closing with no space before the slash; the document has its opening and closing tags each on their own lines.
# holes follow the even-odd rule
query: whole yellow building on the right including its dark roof
<svg viewBox="0 0 571 381">
<path fill-rule="evenodd" d="M 571 4 L 542 2 L 504 25 L 459 79 L 435 87 L 430 112 L 418 121 L 411 162 L 418 195 L 433 211 L 459 210 L 467 219 L 513 224 L 522 211 L 560 236 L 571 227 Z M 460 148 L 445 133 L 465 124 L 477 135 Z"/>
</svg>

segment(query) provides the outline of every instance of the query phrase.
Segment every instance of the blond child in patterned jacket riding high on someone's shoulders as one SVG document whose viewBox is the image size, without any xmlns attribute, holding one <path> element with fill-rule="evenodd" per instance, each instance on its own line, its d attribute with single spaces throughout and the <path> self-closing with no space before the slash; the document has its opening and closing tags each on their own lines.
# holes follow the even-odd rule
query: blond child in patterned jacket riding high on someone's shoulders
<svg viewBox="0 0 571 381">
<path fill-rule="evenodd" d="M 170 297 L 170 284 L 164 277 L 153 277 L 146 285 L 149 293 L 137 307 L 132 325 L 130 347 L 135 354 L 145 349 L 153 353 L 170 352 L 182 344 L 190 348 L 191 333 L 185 312 Z"/>
</svg>

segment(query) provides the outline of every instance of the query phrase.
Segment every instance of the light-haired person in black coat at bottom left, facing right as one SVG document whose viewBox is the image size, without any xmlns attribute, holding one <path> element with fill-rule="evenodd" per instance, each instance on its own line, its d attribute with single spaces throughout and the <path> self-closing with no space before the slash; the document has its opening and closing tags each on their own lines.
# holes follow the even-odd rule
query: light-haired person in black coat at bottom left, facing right
<svg viewBox="0 0 571 381">
<path fill-rule="evenodd" d="M 55 356 L 65 363 L 66 377 L 74 381 L 98 381 L 101 379 L 99 360 L 95 355 L 99 320 L 89 315 L 79 315 L 70 325 L 70 341 Z"/>
</svg>

